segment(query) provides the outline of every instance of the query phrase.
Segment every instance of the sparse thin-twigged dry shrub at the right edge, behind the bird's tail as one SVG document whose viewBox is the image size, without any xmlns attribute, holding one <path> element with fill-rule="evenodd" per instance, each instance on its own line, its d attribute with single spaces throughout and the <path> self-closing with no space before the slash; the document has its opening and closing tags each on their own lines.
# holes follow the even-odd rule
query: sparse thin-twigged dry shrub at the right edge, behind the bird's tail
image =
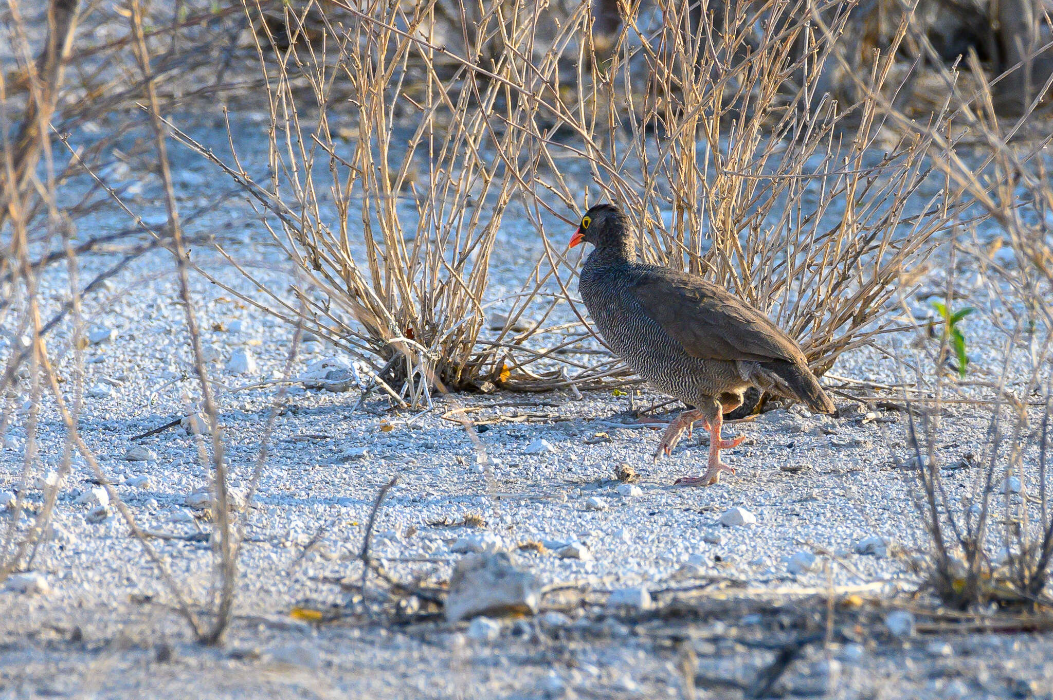
<svg viewBox="0 0 1053 700">
<path fill-rule="evenodd" d="M 1011 279 L 1030 278 L 1025 272 L 1034 269 L 1030 264 L 1011 265 L 1009 272 L 985 248 L 972 245 L 960 262 L 961 271 L 979 272 L 985 281 L 980 293 L 990 300 L 991 320 L 1001 334 L 1002 360 L 990 378 L 969 373 L 962 381 L 958 367 L 948 361 L 955 355 L 949 334 L 941 333 L 939 342 L 919 338 L 914 343 L 919 349 L 905 362 L 914 368 L 906 395 L 908 437 L 919 477 L 919 515 L 930 536 L 929 551 L 917 563 L 939 599 L 955 608 L 990 601 L 1048 605 L 1053 603 L 1047 591 L 1053 563 L 1047 472 L 1053 447 L 1053 306 L 1048 292 L 1045 297 L 1024 292 Z M 1037 288 L 1048 285 L 1047 277 Z M 946 298 L 957 298 L 948 303 L 960 309 L 969 300 L 961 291 L 956 297 L 956 287 L 952 274 Z M 976 396 L 978 389 L 982 398 Z M 966 404 L 987 416 L 976 454 L 945 454 L 945 421 L 950 420 L 945 408 L 950 404 Z M 971 475 L 965 488 L 948 486 L 947 469 Z"/>
</svg>

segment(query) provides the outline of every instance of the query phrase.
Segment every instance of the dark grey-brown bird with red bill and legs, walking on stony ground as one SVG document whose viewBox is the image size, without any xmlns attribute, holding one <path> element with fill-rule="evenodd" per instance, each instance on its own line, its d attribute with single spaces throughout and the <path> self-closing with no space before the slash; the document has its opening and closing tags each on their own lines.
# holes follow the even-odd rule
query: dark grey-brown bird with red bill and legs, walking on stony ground
<svg viewBox="0 0 1053 700">
<path fill-rule="evenodd" d="M 720 432 L 723 414 L 742 404 L 750 386 L 816 413 L 835 412 L 800 346 L 760 309 L 697 275 L 638 262 L 632 222 L 618 206 L 585 212 L 570 247 L 581 243 L 594 246 L 578 275 L 578 294 L 596 329 L 638 376 L 687 406 L 662 434 L 654 461 L 695 421 L 710 431 L 706 473 L 676 484 L 711 485 L 721 473 L 735 473 L 720 451 L 743 437 L 724 440 Z"/>
</svg>

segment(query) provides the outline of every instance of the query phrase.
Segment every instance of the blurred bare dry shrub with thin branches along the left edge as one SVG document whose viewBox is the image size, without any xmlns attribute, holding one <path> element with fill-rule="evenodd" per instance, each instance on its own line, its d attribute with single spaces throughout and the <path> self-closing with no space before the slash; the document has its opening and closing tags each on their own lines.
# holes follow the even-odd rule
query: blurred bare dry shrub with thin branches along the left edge
<svg viewBox="0 0 1053 700">
<path fill-rule="evenodd" d="M 164 9 L 144 17 L 138 0 L 105 8 L 84 6 L 77 0 L 52 0 L 39 6 L 26 3 L 23 7 L 8 0 L 3 14 L 9 28 L 5 53 L 14 61 L 0 76 L 0 441 L 20 448 L 23 457 L 20 473 L 12 475 L 9 482 L 5 480 L 9 485 L 4 495 L 9 488 L 16 496 L 0 511 L 5 519 L 0 528 L 0 582 L 40 565 L 40 552 L 49 537 L 60 493 L 67 480 L 88 477 L 108 495 L 108 509 L 103 506 L 99 517 L 116 511 L 156 566 L 175 609 L 198 639 L 213 642 L 222 636 L 233 603 L 237 549 L 230 523 L 219 517 L 218 614 L 205 624 L 78 427 L 90 400 L 83 387 L 83 351 L 88 344 L 84 325 L 90 321 L 83 315 L 84 299 L 156 247 L 167 247 L 177 261 L 185 261 L 163 131 L 145 132 L 148 140 L 134 139 L 144 134 L 145 114 L 140 104 L 146 104 L 151 116 L 159 119 L 160 112 L 172 108 L 177 100 L 200 98 L 231 86 L 224 83 L 222 54 L 232 44 L 217 37 L 231 39 L 224 29 L 230 28 L 232 17 L 240 17 L 240 8 L 185 2 L 166 8 L 167 15 Z M 152 55 L 147 44 L 163 48 Z M 201 79 L 205 66 L 211 80 Z M 84 142 L 87 145 L 81 147 Z M 116 147 L 118 142 L 122 149 Z M 159 153 L 152 160 L 138 160 L 153 148 Z M 137 165 L 143 169 L 137 172 Z M 168 205 L 167 224 L 158 231 L 144 225 L 130 208 L 134 205 L 130 204 L 130 185 L 148 180 L 160 184 Z M 78 235 L 77 224 L 104 207 L 127 214 L 128 227 L 103 235 Z M 208 208 L 201 207 L 197 214 Z M 136 238 L 116 262 L 94 279 L 80 278 L 79 257 L 130 237 Z M 41 294 L 40 285 L 41 277 L 58 265 L 64 265 L 62 281 L 68 291 L 67 300 L 55 304 L 51 295 Z M 187 328 L 199 349 L 185 264 L 178 267 Z M 48 335 L 60 324 L 72 329 L 68 344 Z M 197 355 L 200 369 L 200 353 Z M 207 380 L 203 372 L 199 376 L 207 395 Z M 220 434 L 215 409 L 208 413 L 213 418 L 215 494 L 222 504 L 220 513 L 225 514 Z M 53 415 L 64 429 L 54 437 L 44 436 L 38 431 L 41 416 L 54 420 Z M 47 444 L 48 440 L 58 444 Z M 42 459 L 42 455 L 56 452 L 60 455 L 57 463 Z M 265 449 L 261 460 L 263 455 Z M 76 474 L 78 471 L 81 474 Z"/>
</svg>

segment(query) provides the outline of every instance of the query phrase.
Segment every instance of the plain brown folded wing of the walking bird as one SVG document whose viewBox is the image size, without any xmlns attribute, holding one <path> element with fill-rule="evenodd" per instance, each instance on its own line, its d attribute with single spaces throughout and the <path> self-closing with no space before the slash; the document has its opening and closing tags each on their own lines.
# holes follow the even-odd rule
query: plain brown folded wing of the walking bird
<svg viewBox="0 0 1053 700">
<path fill-rule="evenodd" d="M 658 267 L 643 273 L 633 291 L 644 313 L 693 357 L 808 364 L 771 319 L 699 277 Z"/>
</svg>

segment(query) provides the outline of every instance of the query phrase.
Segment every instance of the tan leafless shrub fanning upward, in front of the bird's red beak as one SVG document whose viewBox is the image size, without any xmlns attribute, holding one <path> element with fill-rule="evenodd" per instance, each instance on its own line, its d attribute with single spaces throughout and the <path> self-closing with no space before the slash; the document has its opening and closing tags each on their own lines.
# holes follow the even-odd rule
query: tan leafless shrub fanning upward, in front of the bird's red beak
<svg viewBox="0 0 1053 700">
<path fill-rule="evenodd" d="M 372 361 L 389 394 L 412 403 L 434 381 L 506 379 L 500 338 L 478 341 L 502 216 L 526 185 L 522 173 L 547 156 L 535 147 L 540 107 L 524 81 L 551 75 L 559 54 L 544 54 L 541 68 L 522 58 L 545 11 L 509 19 L 493 3 L 474 16 L 465 54 L 483 67 L 436 43 L 434 2 L 285 6 L 280 41 L 274 22 L 259 19 L 273 16 L 246 4 L 270 39 L 259 56 L 275 125 L 271 178 L 253 180 L 236 158 L 221 165 L 280 222 L 264 221 L 310 283 L 294 285 L 309 308 L 304 327 Z M 585 16 L 582 5 L 579 25 Z M 505 41 L 522 53 L 494 51 Z M 317 162 L 329 165 L 324 185 Z M 266 305 L 294 321 L 281 292 L 269 289 Z"/>
</svg>

